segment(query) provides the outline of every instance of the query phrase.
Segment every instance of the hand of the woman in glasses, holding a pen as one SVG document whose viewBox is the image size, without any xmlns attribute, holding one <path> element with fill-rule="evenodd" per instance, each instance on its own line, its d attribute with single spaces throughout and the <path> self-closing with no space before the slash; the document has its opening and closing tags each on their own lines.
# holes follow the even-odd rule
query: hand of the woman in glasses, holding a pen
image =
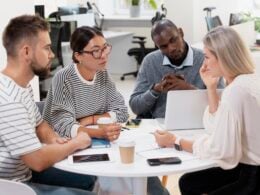
<svg viewBox="0 0 260 195">
<path fill-rule="evenodd" d="M 109 141 L 114 141 L 118 139 L 121 132 L 121 125 L 117 123 L 109 124 L 103 128 L 100 128 L 103 137 Z"/>
</svg>

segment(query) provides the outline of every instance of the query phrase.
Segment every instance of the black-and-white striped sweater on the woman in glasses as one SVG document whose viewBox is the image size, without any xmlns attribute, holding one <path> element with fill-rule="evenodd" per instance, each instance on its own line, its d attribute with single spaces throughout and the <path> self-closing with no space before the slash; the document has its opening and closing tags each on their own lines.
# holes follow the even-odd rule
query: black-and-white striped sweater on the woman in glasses
<svg viewBox="0 0 260 195">
<path fill-rule="evenodd" d="M 55 74 L 45 105 L 44 119 L 63 137 L 74 137 L 83 117 L 112 112 L 117 122 L 128 118 L 124 98 L 108 72 L 98 71 L 90 82 L 74 64 Z"/>
</svg>

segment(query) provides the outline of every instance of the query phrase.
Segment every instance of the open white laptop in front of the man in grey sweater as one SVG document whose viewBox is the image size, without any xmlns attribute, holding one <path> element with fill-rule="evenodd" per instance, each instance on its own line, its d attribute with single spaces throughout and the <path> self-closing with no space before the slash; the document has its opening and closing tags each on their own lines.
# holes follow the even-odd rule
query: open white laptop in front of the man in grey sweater
<svg viewBox="0 0 260 195">
<path fill-rule="evenodd" d="M 203 129 L 203 114 L 207 105 L 207 90 L 169 91 L 165 128 L 167 130 Z"/>
</svg>

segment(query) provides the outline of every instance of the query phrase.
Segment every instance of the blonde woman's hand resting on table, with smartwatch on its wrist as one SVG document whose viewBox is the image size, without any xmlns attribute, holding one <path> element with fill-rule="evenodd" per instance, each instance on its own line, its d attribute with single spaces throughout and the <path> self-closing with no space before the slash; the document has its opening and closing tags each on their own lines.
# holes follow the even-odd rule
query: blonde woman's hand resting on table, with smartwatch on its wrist
<svg viewBox="0 0 260 195">
<path fill-rule="evenodd" d="M 160 147 L 173 147 L 176 136 L 168 131 L 157 130 L 154 137 Z"/>
</svg>

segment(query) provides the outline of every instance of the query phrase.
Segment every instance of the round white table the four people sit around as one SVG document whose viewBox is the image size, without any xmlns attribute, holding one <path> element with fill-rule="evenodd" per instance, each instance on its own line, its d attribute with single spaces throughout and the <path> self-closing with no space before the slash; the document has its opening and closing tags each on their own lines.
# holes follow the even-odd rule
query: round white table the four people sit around
<svg viewBox="0 0 260 195">
<path fill-rule="evenodd" d="M 123 131 L 121 133 L 119 140 L 128 138 L 133 139 L 136 142 L 135 162 L 131 165 L 123 165 L 120 163 L 117 142 L 114 142 L 111 148 L 87 149 L 81 152 L 88 154 L 106 152 L 109 153 L 109 155 L 112 157 L 112 162 L 72 164 L 68 161 L 68 159 L 65 159 L 55 164 L 55 167 L 81 174 L 130 178 L 132 180 L 133 194 L 145 195 L 147 190 L 148 176 L 160 176 L 180 172 L 190 172 L 215 166 L 212 161 L 199 160 L 192 154 L 184 151 L 176 151 L 172 148 L 155 149 L 158 148 L 158 146 L 155 143 L 154 136 L 151 134 L 151 132 L 154 132 L 158 128 L 160 128 L 160 126 L 156 120 L 148 119 L 142 121 L 140 128 L 135 130 L 131 129 L 129 131 Z M 192 137 L 195 134 L 199 135 L 201 133 L 204 133 L 204 130 L 185 130 L 180 133 L 183 137 Z M 146 162 L 148 156 L 153 156 L 153 158 L 156 158 L 166 157 L 169 155 L 179 156 L 182 159 L 182 163 L 179 165 L 161 165 L 151 167 Z"/>
</svg>

